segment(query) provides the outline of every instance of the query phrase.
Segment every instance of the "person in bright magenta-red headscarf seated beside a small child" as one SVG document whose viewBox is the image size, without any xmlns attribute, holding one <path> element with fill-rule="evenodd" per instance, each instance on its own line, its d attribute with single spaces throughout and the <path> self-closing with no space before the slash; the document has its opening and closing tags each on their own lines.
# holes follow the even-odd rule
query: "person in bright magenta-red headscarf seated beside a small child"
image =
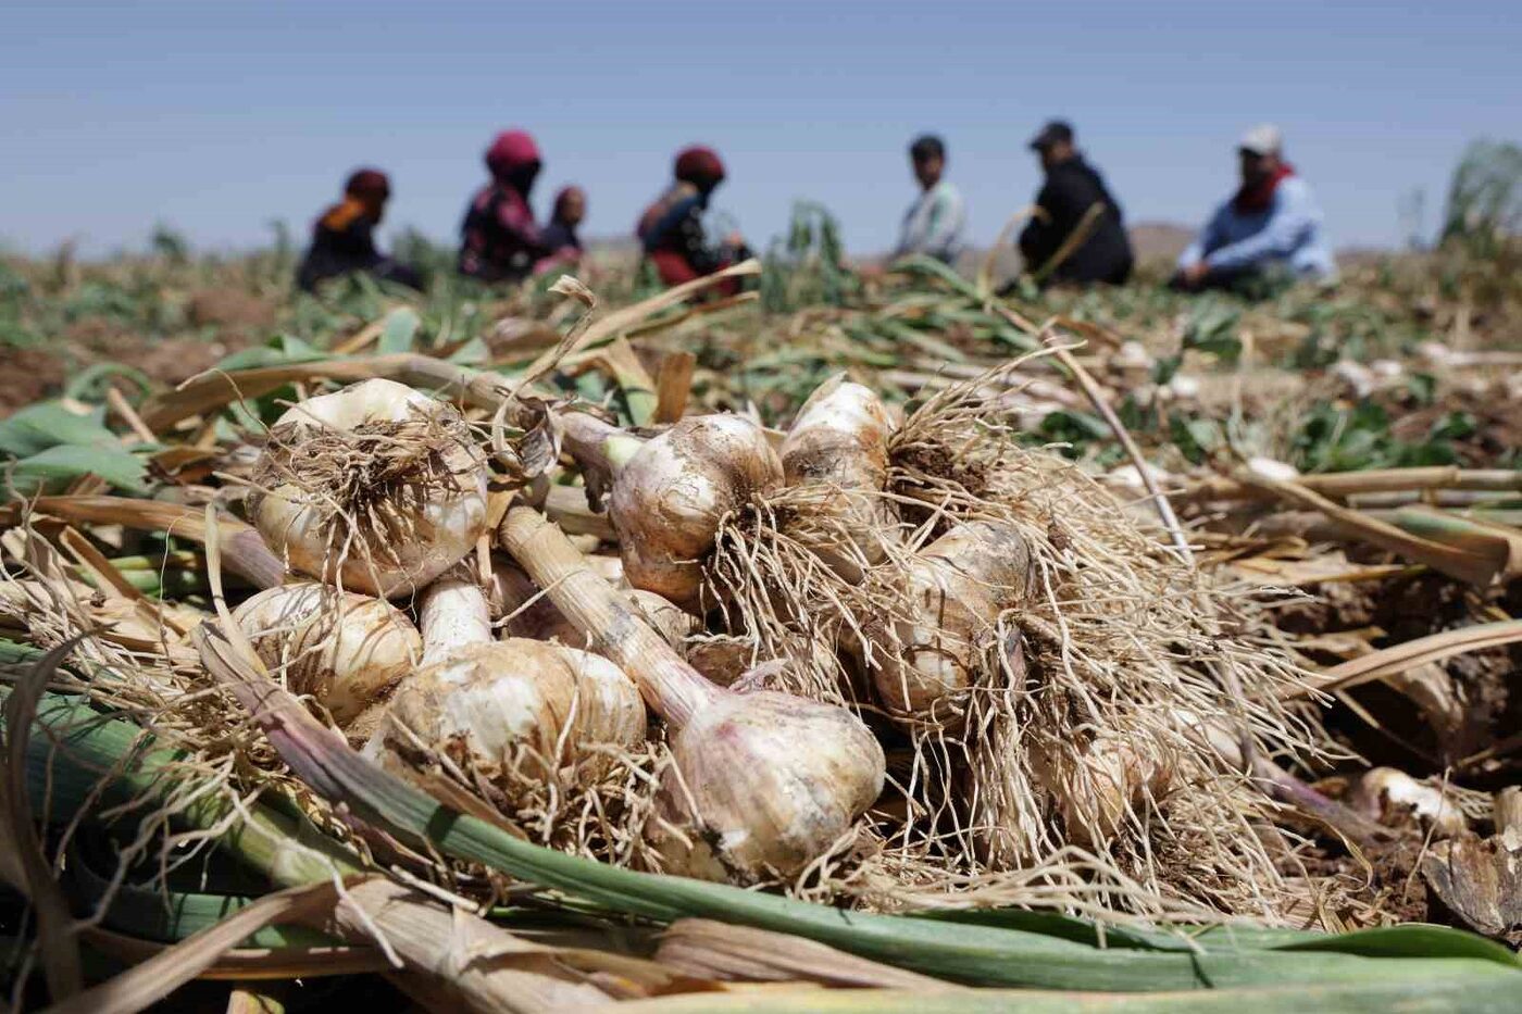
<svg viewBox="0 0 1522 1014">
<path fill-rule="evenodd" d="M 486 152 L 492 183 L 470 198 L 460 224 L 460 274 L 482 282 L 521 282 L 554 253 L 528 206 L 542 166 L 539 146 L 527 132 L 496 136 Z"/>
</svg>

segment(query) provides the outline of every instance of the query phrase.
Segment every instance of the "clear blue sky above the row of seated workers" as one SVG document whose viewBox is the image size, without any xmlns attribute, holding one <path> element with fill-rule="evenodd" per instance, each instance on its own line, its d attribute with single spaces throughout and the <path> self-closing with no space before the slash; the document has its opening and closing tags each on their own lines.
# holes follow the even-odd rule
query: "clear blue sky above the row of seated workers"
<svg viewBox="0 0 1522 1014">
<path fill-rule="evenodd" d="M 1024 143 L 1071 119 L 1132 221 L 1196 224 L 1242 128 L 1277 120 L 1333 241 L 1428 224 L 1464 143 L 1522 137 L 1511 3 L 18 3 L 0 8 L 0 242 L 196 245 L 307 222 L 356 164 L 387 169 L 388 228 L 452 236 L 505 126 L 577 181 L 587 234 L 622 234 L 673 151 L 731 166 L 718 206 L 756 241 L 810 196 L 858 251 L 913 196 L 904 146 L 950 146 L 977 241 L 1029 201 Z"/>
</svg>

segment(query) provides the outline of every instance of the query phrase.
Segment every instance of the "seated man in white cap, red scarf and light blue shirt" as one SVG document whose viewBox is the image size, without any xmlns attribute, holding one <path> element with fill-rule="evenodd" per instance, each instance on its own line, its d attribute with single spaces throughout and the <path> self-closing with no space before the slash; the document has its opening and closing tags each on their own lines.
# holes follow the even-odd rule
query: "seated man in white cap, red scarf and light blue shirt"
<svg viewBox="0 0 1522 1014">
<path fill-rule="evenodd" d="M 1254 126 L 1237 145 L 1242 187 L 1216 209 L 1178 259 L 1181 289 L 1236 288 L 1256 279 L 1336 277 L 1321 209 L 1285 161 L 1277 126 Z"/>
</svg>

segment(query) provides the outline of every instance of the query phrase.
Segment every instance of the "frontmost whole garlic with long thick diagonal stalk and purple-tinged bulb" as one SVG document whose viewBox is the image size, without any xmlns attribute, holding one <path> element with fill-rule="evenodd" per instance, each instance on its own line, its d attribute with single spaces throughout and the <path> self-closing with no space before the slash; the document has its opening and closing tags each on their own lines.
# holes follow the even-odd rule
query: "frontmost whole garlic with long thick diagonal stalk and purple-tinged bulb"
<svg viewBox="0 0 1522 1014">
<path fill-rule="evenodd" d="M 854 714 L 708 682 L 533 509 L 510 509 L 499 534 L 670 725 L 674 764 L 648 831 L 668 872 L 735 882 L 796 874 L 877 799 L 883 749 Z"/>
</svg>

